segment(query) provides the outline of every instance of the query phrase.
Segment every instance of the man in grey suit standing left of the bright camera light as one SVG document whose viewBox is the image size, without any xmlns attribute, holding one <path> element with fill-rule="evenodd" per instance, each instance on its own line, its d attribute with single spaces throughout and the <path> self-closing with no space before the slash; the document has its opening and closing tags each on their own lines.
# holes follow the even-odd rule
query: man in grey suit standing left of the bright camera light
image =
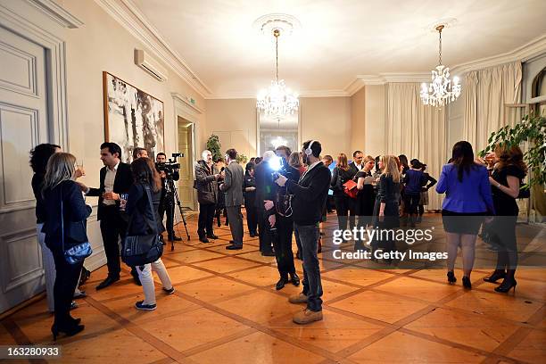
<svg viewBox="0 0 546 364">
<path fill-rule="evenodd" d="M 243 249 L 243 167 L 236 161 L 237 151 L 228 149 L 226 152 L 227 167 L 224 172 L 224 183 L 219 188 L 226 196 L 227 219 L 233 240 L 231 245 L 226 246 L 227 250 Z"/>
</svg>

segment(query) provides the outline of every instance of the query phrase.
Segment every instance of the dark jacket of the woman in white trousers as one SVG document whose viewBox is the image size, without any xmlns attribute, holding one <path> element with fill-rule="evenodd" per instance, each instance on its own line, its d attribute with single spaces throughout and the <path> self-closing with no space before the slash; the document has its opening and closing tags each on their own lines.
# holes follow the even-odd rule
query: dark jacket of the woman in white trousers
<svg viewBox="0 0 546 364">
<path fill-rule="evenodd" d="M 153 211 L 150 210 L 150 203 L 148 202 L 144 185 L 137 183 L 129 189 L 127 204 L 125 205 L 125 211 L 129 219 L 127 233 L 129 236 L 144 236 L 153 233 L 159 235 L 165 231 L 158 212 L 161 201 L 161 190 L 153 192 L 150 187 L 150 194 L 152 195 Z M 146 219 L 153 221 L 154 217 L 157 225 L 156 231 L 153 231 L 150 224 L 146 222 Z"/>
</svg>

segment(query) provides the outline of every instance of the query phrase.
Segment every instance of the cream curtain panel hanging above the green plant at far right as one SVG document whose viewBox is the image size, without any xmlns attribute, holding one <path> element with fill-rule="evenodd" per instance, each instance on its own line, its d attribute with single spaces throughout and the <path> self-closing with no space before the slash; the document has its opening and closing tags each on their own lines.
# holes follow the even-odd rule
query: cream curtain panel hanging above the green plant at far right
<svg viewBox="0 0 546 364">
<path fill-rule="evenodd" d="M 521 81 L 521 62 L 467 73 L 463 135 L 475 153 L 484 149 L 493 131 L 514 120 L 505 104 L 521 102 Z"/>
</svg>

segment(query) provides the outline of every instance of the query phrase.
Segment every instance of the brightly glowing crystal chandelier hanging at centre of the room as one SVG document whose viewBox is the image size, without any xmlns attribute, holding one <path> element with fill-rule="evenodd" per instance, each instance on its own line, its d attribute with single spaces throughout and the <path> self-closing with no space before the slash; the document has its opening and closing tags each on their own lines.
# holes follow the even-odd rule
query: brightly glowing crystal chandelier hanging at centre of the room
<svg viewBox="0 0 546 364">
<path fill-rule="evenodd" d="M 280 29 L 273 29 L 273 36 L 275 37 L 276 54 L 275 80 L 271 81 L 271 86 L 268 89 L 260 91 L 256 107 L 259 112 L 282 119 L 285 115 L 294 114 L 294 112 L 298 111 L 300 100 L 298 100 L 298 94 L 286 87 L 284 79 L 278 79 L 278 37 L 280 36 Z"/>
</svg>

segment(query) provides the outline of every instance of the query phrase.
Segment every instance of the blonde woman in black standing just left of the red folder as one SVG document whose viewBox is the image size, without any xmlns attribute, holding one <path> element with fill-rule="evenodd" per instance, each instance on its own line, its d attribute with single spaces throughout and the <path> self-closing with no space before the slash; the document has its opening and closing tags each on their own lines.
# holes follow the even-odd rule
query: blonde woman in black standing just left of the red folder
<svg viewBox="0 0 546 364">
<path fill-rule="evenodd" d="M 351 229 L 354 227 L 354 201 L 343 192 L 343 184 L 351 180 L 355 173 L 356 172 L 349 167 L 347 155 L 345 153 L 339 153 L 337 156 L 337 164 L 332 173 L 330 186 L 334 191 L 335 213 L 337 213 L 337 221 L 340 230 L 345 230 L 347 228 L 347 219 L 350 219 L 349 226 Z M 349 213 L 351 213 L 351 218 L 349 218 Z"/>
</svg>

